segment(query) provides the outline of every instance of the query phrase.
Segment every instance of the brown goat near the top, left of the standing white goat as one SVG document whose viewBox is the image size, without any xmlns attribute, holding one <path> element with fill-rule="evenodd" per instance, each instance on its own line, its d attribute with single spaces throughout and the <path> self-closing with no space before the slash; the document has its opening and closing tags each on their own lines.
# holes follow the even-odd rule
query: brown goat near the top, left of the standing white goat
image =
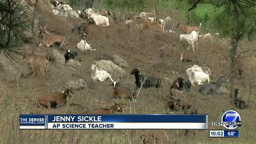
<svg viewBox="0 0 256 144">
<path fill-rule="evenodd" d="M 146 18 L 142 18 L 142 25 L 145 29 L 164 31 L 161 21 L 156 19 L 153 22 L 148 21 Z"/>
</svg>

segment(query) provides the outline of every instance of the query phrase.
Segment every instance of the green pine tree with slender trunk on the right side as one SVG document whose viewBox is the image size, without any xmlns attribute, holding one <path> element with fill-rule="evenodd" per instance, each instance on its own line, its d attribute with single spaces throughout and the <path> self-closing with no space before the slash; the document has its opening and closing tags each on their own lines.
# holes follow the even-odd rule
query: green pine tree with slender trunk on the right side
<svg viewBox="0 0 256 144">
<path fill-rule="evenodd" d="M 189 9 L 196 8 L 195 2 Z M 231 107 L 234 107 L 234 86 L 235 69 L 234 61 L 236 59 L 238 43 L 241 39 L 255 38 L 255 2 L 253 0 L 213 0 L 212 5 L 215 9 L 215 19 L 211 21 L 213 28 L 221 30 L 223 37 L 230 36 L 230 99 Z M 255 50 L 254 50 L 255 51 Z"/>
</svg>

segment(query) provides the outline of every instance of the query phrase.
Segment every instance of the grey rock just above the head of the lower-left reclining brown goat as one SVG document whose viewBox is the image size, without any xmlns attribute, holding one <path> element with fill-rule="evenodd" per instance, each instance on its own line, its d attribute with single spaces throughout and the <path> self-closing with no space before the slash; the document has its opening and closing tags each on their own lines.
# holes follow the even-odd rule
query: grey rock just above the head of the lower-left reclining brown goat
<svg viewBox="0 0 256 144">
<path fill-rule="evenodd" d="M 69 79 L 65 84 L 72 90 L 80 90 L 86 87 L 84 79 L 81 79 L 81 78 Z"/>
</svg>

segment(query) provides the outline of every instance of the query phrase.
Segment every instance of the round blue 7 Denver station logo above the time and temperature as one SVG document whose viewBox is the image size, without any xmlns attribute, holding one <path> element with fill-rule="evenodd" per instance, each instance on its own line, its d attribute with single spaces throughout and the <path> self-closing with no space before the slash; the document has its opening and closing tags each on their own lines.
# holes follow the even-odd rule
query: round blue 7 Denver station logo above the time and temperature
<svg viewBox="0 0 256 144">
<path fill-rule="evenodd" d="M 241 126 L 241 117 L 235 110 L 226 111 L 222 117 L 221 122 L 212 122 L 212 125 L 223 125 L 226 129 L 236 129 L 237 126 Z"/>
</svg>

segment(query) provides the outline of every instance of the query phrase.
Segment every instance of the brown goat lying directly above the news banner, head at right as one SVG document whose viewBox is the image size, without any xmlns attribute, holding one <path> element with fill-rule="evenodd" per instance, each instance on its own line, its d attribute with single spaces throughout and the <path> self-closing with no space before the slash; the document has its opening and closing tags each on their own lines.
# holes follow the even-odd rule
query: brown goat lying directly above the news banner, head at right
<svg viewBox="0 0 256 144">
<path fill-rule="evenodd" d="M 122 103 L 118 103 L 116 101 L 114 102 L 115 102 L 115 105 L 109 108 L 100 108 L 98 110 L 90 111 L 86 114 L 113 114 L 115 113 L 115 111 L 122 112 L 123 111 Z"/>
</svg>

